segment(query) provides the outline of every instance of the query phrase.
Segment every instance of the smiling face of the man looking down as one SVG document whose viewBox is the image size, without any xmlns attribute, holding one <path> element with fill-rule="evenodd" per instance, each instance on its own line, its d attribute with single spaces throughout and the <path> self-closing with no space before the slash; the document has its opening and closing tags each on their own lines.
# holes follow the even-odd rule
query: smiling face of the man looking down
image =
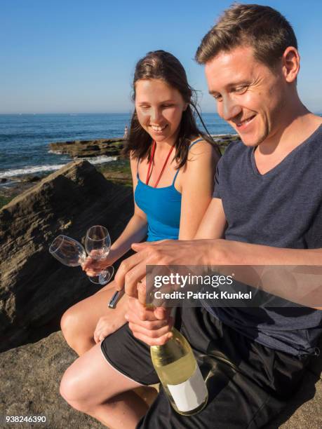
<svg viewBox="0 0 322 429">
<path fill-rule="evenodd" d="M 255 60 L 253 49 L 240 46 L 206 63 L 209 93 L 218 114 L 238 132 L 246 146 L 272 137 L 283 121 L 286 81 Z"/>
</svg>

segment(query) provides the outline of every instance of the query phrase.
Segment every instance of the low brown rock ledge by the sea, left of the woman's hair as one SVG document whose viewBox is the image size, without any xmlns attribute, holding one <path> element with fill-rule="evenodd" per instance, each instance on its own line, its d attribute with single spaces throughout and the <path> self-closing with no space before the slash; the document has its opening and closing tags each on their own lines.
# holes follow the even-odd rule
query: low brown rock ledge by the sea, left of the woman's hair
<svg viewBox="0 0 322 429">
<path fill-rule="evenodd" d="M 72 142 L 50 143 L 49 148 L 55 154 L 67 154 L 72 158 L 91 156 L 119 156 L 123 149 L 123 139 L 74 140 Z"/>
</svg>

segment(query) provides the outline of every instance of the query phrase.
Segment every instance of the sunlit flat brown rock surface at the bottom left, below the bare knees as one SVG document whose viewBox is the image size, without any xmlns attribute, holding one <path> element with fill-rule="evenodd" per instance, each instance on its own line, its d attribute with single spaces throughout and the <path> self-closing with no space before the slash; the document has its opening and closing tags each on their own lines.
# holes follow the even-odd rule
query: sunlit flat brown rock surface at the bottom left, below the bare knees
<svg viewBox="0 0 322 429">
<path fill-rule="evenodd" d="M 46 417 L 46 424 L 11 424 L 20 428 L 104 428 L 94 418 L 69 407 L 60 397 L 60 379 L 76 357 L 61 332 L 55 332 L 38 343 L 1 353 L 0 428 L 7 427 L 1 421 L 4 416 Z"/>
</svg>

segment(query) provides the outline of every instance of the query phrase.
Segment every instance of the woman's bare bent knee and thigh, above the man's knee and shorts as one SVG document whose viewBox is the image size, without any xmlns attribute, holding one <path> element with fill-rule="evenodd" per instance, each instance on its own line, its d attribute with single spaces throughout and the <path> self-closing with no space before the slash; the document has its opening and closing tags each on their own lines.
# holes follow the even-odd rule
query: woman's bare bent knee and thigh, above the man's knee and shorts
<svg viewBox="0 0 322 429">
<path fill-rule="evenodd" d="M 95 346 L 94 331 L 102 316 L 110 316 L 110 332 L 115 332 L 125 322 L 126 297 L 122 297 L 112 309 L 108 307 L 112 295 L 116 291 L 114 281 L 103 287 L 91 297 L 83 299 L 68 308 L 62 315 L 60 326 L 62 334 L 73 350 L 80 356 Z"/>
</svg>

